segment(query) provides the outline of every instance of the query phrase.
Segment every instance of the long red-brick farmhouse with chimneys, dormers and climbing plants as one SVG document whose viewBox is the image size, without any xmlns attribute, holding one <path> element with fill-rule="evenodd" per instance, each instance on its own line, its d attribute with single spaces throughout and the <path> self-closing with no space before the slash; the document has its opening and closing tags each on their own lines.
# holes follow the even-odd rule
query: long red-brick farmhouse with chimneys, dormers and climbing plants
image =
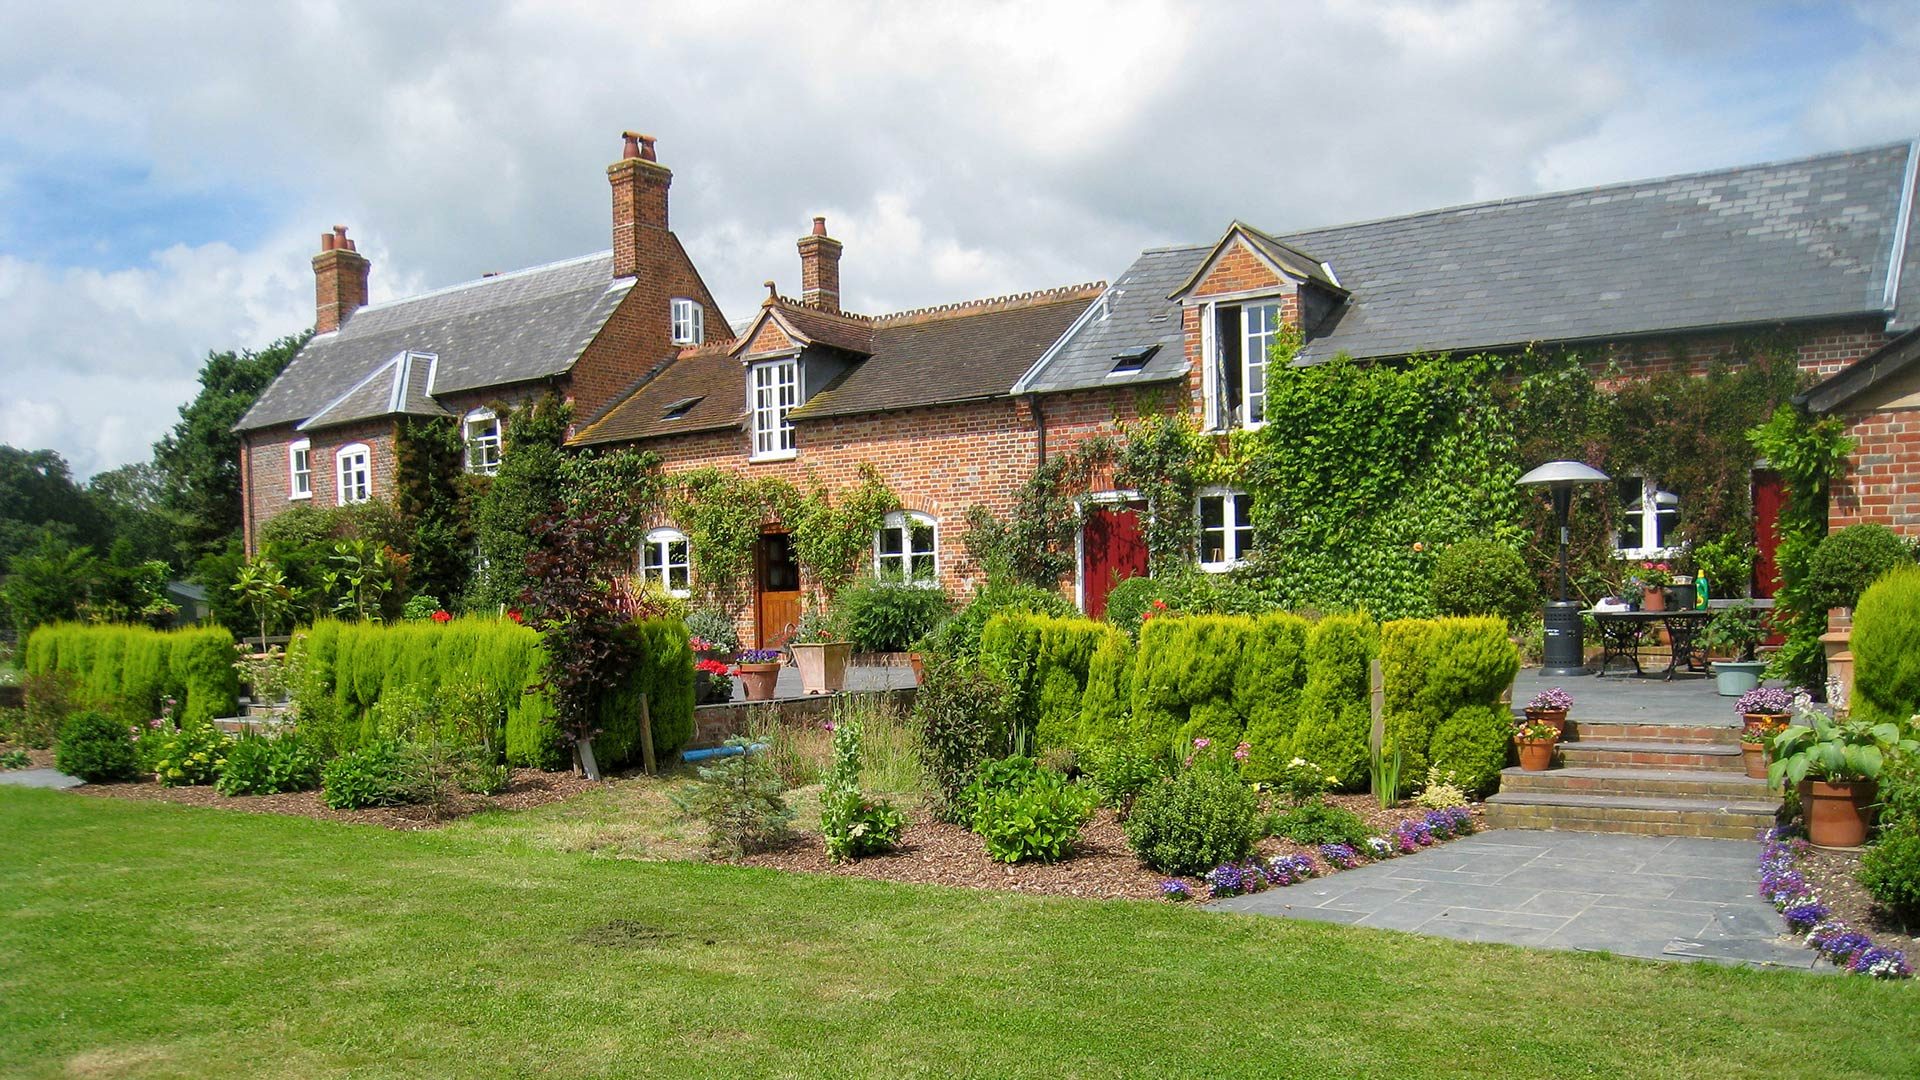
<svg viewBox="0 0 1920 1080">
<path fill-rule="evenodd" d="M 1768 332 L 1820 377 L 1803 402 L 1859 440 L 1834 525 L 1920 534 L 1916 160 L 1901 142 L 1288 234 L 1233 223 L 1140 252 L 1112 284 L 883 315 L 843 309 L 843 246 L 814 217 L 801 296 L 768 282 L 733 332 L 668 229 L 672 175 L 630 135 L 607 169 L 611 252 L 367 306 L 367 259 L 344 229 L 323 236 L 317 334 L 238 425 L 248 542 L 288 505 L 386 494 L 405 417 L 461 423 L 468 467 L 497 467 L 505 407 L 551 388 L 574 404 L 574 446 L 647 448 L 668 473 L 837 488 L 870 463 L 900 498 L 874 569 L 960 590 L 981 580 L 964 513 L 1010 509 L 1041 461 L 1144 411 L 1261 425 L 1284 327 L 1304 338 L 1298 363 L 1555 346 L 1626 377 L 1699 373 Z M 1766 563 L 1778 498 L 1763 463 L 1753 482 Z M 1619 550 L 1655 555 L 1678 507 L 1657 477 L 1628 484 L 1622 505 L 1644 517 Z M 1144 505 L 1094 488 L 1073 580 L 1091 613 L 1146 565 Z M 1252 536 L 1238 492 L 1190 511 L 1196 561 L 1233 567 Z M 685 590 L 699 552 L 659 521 L 636 569 Z M 1755 584 L 1764 596 L 1764 571 Z M 753 594 L 735 598 L 743 638 L 781 640 L 799 592 L 770 521 Z"/>
</svg>

